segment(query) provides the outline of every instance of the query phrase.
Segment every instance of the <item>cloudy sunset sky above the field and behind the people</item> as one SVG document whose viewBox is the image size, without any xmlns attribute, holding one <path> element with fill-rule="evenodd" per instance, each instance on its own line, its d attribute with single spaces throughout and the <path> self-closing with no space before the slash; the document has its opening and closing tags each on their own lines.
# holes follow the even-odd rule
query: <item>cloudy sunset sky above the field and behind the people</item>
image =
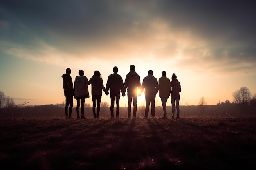
<svg viewBox="0 0 256 170">
<path fill-rule="evenodd" d="M 254 0 L 0 0 L 0 90 L 17 105 L 63 103 L 66 68 L 73 83 L 79 70 L 88 79 L 98 70 L 106 86 L 114 66 L 125 80 L 135 65 L 141 83 L 148 70 L 157 79 L 175 73 L 180 105 L 232 102 L 240 87 L 254 95 L 255 7 Z M 144 94 L 137 104 L 145 106 Z M 158 94 L 155 104 L 162 105 Z"/>
</svg>

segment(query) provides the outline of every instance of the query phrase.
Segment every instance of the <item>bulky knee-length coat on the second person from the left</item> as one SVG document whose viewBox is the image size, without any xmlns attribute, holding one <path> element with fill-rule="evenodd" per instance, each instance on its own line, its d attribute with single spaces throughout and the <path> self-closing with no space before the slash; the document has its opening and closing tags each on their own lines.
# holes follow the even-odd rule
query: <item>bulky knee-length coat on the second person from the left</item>
<svg viewBox="0 0 256 170">
<path fill-rule="evenodd" d="M 79 99 L 79 98 L 89 98 L 89 92 L 88 92 L 88 86 L 87 84 L 89 83 L 87 77 L 85 76 L 76 76 L 75 79 L 75 96 L 74 98 Z"/>
</svg>

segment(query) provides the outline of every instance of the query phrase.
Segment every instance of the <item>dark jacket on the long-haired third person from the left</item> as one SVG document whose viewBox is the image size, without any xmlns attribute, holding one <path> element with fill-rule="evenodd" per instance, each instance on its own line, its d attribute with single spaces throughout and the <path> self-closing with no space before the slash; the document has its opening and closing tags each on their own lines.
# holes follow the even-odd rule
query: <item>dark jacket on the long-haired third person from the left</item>
<svg viewBox="0 0 256 170">
<path fill-rule="evenodd" d="M 92 95 L 101 95 L 102 96 L 102 90 L 106 93 L 107 90 L 103 85 L 103 80 L 99 76 L 92 76 L 89 80 L 89 85 L 92 84 Z"/>
</svg>

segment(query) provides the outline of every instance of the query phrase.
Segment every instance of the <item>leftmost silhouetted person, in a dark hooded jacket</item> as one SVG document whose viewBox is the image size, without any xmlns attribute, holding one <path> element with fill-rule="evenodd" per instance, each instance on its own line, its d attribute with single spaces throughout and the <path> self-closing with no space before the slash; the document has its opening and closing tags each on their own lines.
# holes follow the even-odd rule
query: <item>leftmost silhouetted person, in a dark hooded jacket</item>
<svg viewBox="0 0 256 170">
<path fill-rule="evenodd" d="M 65 106 L 65 114 L 66 118 L 72 118 L 72 108 L 73 108 L 73 95 L 74 95 L 74 86 L 72 82 L 72 78 L 70 76 L 71 70 L 70 68 L 66 69 L 66 73 L 61 77 L 63 78 L 63 89 L 64 96 L 66 97 L 66 106 Z M 69 109 L 68 109 L 69 106 Z M 67 114 L 68 109 L 68 114 Z"/>
</svg>

